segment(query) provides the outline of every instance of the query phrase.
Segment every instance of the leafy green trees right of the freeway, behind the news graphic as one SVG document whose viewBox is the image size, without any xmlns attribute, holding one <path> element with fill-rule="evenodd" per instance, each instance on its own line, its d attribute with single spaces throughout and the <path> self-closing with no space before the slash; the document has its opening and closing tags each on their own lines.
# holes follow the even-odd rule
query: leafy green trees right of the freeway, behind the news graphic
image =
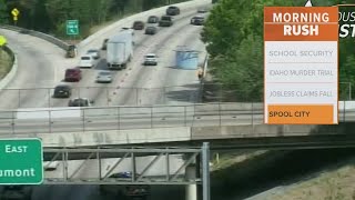
<svg viewBox="0 0 355 200">
<path fill-rule="evenodd" d="M 211 56 L 214 81 L 232 89 L 239 101 L 262 101 L 264 6 L 298 6 L 306 1 L 219 0 L 206 20 L 202 39 Z M 314 6 L 355 3 L 355 0 L 317 0 Z M 355 86 L 355 40 L 339 40 L 339 97 L 348 97 L 348 82 Z M 354 52 L 354 53 L 349 53 Z M 344 82 L 344 83 L 343 83 Z M 355 97 L 355 90 L 352 92 Z M 234 98 L 235 99 L 235 98 Z"/>
</svg>

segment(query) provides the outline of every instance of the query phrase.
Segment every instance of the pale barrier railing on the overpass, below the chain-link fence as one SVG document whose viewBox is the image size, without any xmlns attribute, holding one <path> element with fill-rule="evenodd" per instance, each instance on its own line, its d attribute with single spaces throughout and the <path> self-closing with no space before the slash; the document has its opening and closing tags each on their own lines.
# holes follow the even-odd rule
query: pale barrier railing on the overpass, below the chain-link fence
<svg viewBox="0 0 355 200">
<path fill-rule="evenodd" d="M 255 126 L 263 123 L 263 112 L 262 102 L 3 110 L 0 134 Z M 355 102 L 339 102 L 339 121 L 355 121 Z"/>
</svg>

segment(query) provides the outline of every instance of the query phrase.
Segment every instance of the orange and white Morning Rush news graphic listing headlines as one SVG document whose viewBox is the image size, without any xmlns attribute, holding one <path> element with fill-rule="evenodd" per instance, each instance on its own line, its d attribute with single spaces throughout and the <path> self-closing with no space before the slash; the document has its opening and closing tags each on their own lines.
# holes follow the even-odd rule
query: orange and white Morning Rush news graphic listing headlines
<svg viewBox="0 0 355 200">
<path fill-rule="evenodd" d="M 264 8 L 264 122 L 338 123 L 338 8 Z"/>
</svg>

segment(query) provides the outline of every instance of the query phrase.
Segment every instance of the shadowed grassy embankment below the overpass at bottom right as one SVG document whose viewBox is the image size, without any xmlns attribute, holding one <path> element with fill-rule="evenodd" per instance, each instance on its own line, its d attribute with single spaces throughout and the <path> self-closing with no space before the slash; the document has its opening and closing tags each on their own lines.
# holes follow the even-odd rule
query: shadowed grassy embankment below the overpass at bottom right
<svg viewBox="0 0 355 200">
<path fill-rule="evenodd" d="M 256 199 L 355 200 L 355 159 L 348 163 L 354 153 L 355 149 L 315 149 L 223 154 L 212 167 L 211 196 L 239 200 L 281 186 Z M 343 170 L 326 176 L 345 163 Z"/>
</svg>

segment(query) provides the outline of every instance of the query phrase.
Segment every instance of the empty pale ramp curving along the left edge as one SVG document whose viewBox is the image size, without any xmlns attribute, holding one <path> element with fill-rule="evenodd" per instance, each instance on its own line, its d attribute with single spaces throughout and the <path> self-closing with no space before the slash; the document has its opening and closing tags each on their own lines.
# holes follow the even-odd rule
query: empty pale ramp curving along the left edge
<svg viewBox="0 0 355 200">
<path fill-rule="evenodd" d="M 0 29 L 10 49 L 18 58 L 18 72 L 7 88 L 52 88 L 61 80 L 61 73 L 70 66 L 63 50 L 37 37 Z M 45 106 L 48 93 L 40 90 L 1 90 L 0 109 Z M 47 101 L 48 102 L 48 101 Z M 44 103 L 44 104 L 43 104 Z M 48 103 L 47 103 L 48 104 Z"/>
</svg>

